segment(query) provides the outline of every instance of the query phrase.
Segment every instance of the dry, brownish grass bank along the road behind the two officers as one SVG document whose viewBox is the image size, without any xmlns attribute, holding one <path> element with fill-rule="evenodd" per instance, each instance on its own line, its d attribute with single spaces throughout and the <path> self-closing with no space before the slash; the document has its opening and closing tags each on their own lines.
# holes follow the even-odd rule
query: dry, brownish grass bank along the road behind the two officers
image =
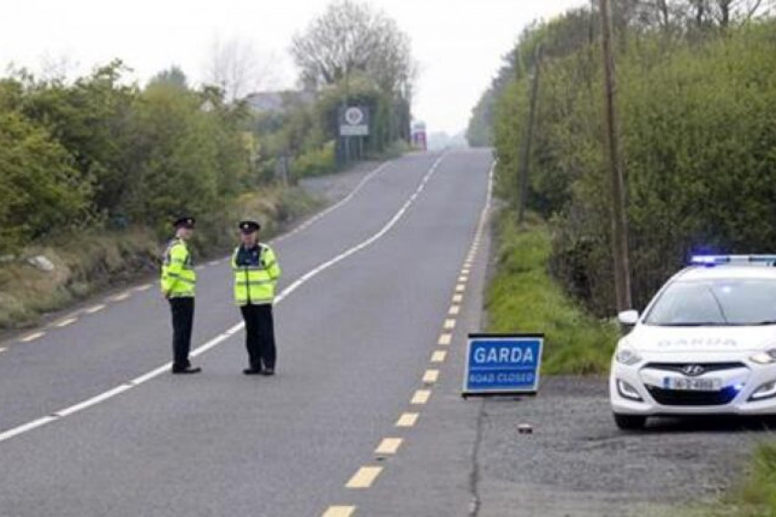
<svg viewBox="0 0 776 517">
<path fill-rule="evenodd" d="M 263 188 L 244 194 L 220 213 L 198 218 L 194 258 L 201 262 L 227 253 L 237 242 L 236 224 L 241 218 L 258 218 L 263 225 L 261 238 L 269 239 L 319 206 L 301 188 Z M 0 330 L 34 326 L 46 312 L 64 309 L 101 289 L 157 274 L 169 237 L 168 224 L 160 228 L 165 229 L 58 236 L 0 264 Z M 38 255 L 48 258 L 54 270 L 41 271 L 26 262 Z"/>
</svg>

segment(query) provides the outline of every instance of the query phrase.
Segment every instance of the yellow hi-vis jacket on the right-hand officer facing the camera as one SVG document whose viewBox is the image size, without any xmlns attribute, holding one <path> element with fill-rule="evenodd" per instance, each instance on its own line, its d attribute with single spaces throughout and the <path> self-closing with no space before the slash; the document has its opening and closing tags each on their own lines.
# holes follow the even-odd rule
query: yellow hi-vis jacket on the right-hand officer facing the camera
<svg viewBox="0 0 776 517">
<path fill-rule="evenodd" d="M 275 285 L 281 267 L 275 252 L 266 244 L 239 246 L 231 257 L 234 271 L 234 301 L 237 305 L 263 305 L 275 299 Z"/>
</svg>

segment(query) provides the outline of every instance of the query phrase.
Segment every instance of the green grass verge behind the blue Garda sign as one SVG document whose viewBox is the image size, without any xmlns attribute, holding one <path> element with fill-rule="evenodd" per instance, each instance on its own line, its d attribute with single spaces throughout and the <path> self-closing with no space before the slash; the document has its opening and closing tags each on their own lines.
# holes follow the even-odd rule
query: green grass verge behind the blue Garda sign
<svg viewBox="0 0 776 517">
<path fill-rule="evenodd" d="M 533 219 L 519 227 L 516 219 L 502 209 L 495 220 L 495 271 L 485 301 L 489 331 L 543 332 L 545 373 L 606 372 L 617 327 L 587 314 L 550 277 L 546 224 Z"/>
</svg>

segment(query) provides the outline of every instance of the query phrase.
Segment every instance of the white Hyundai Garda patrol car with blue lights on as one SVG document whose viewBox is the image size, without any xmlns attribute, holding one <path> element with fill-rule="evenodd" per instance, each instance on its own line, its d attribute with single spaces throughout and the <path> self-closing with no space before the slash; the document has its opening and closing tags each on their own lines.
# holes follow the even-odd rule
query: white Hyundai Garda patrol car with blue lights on
<svg viewBox="0 0 776 517">
<path fill-rule="evenodd" d="M 776 414 L 776 255 L 693 257 L 619 320 L 609 394 L 620 429 L 649 416 Z"/>
</svg>

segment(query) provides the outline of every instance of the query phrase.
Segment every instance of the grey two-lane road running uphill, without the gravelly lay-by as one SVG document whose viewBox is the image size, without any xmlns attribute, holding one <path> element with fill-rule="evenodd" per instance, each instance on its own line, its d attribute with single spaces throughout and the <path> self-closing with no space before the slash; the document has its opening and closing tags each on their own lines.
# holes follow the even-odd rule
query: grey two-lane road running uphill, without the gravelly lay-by
<svg viewBox="0 0 776 517">
<path fill-rule="evenodd" d="M 488 151 L 400 158 L 275 241 L 276 378 L 240 374 L 225 260 L 199 271 L 198 376 L 167 372 L 155 286 L 4 343 L 0 514 L 467 514 L 478 410 L 455 387 L 491 166 Z M 435 415 L 448 407 L 465 413 L 454 429 Z"/>
</svg>

